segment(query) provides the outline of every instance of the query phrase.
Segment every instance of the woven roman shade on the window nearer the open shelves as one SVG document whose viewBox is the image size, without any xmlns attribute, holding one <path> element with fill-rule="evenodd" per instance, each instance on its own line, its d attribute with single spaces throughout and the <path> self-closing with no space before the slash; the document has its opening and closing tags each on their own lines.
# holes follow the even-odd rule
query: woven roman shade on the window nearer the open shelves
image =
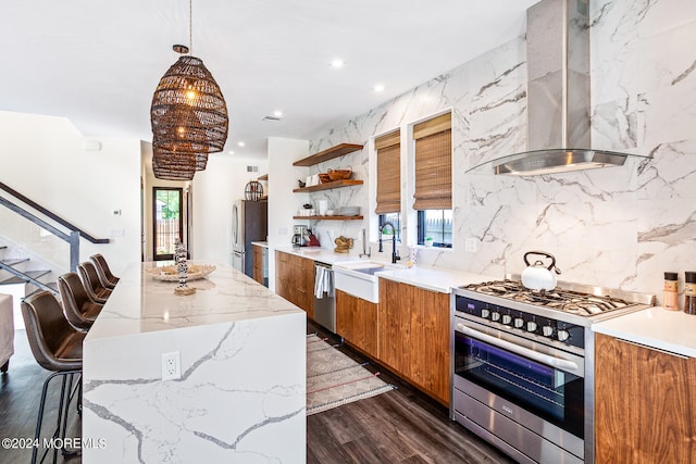
<svg viewBox="0 0 696 464">
<path fill-rule="evenodd" d="M 377 214 L 401 211 L 401 131 L 374 139 L 377 150 Z"/>
</svg>

